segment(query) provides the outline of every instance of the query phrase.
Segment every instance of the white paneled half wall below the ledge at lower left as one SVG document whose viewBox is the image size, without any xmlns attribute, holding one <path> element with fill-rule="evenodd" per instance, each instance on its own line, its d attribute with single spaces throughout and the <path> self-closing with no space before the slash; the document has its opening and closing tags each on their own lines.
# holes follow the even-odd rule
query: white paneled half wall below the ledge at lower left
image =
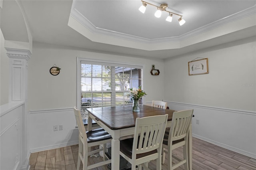
<svg viewBox="0 0 256 170">
<path fill-rule="evenodd" d="M 24 102 L 16 101 L 0 106 L 1 170 L 20 170 L 28 167 L 28 152 L 24 152 Z"/>
</svg>

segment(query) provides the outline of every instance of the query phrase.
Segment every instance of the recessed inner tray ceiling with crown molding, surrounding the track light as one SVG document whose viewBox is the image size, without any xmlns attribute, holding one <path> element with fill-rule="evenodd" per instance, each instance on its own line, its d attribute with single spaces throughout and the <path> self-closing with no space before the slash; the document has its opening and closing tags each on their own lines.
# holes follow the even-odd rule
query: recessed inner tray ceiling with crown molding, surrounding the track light
<svg viewBox="0 0 256 170">
<path fill-rule="evenodd" d="M 80 12 L 96 28 L 119 32 L 145 39 L 179 37 L 188 32 L 231 16 L 256 4 L 255 1 L 239 0 L 158 0 L 147 1 L 160 6 L 168 3 L 167 10 L 183 15 L 186 24 L 180 26 L 173 15 L 172 22 L 166 22 L 168 12 L 162 12 L 156 18 L 156 7 L 148 5 L 142 14 L 138 8 L 140 0 L 78 0 L 74 1 L 73 10 Z"/>
</svg>

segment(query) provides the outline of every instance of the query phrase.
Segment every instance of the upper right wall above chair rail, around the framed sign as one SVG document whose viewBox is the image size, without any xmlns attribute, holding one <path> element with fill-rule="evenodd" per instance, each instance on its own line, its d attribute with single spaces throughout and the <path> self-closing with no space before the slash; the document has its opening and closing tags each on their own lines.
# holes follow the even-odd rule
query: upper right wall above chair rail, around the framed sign
<svg viewBox="0 0 256 170">
<path fill-rule="evenodd" d="M 254 42 L 250 42 L 254 40 Z M 256 111 L 255 37 L 219 45 L 165 62 L 165 99 Z M 209 73 L 188 75 L 188 61 L 208 58 Z M 178 73 L 178 74 L 177 74 Z M 244 85 L 251 86 L 244 86 Z"/>
</svg>

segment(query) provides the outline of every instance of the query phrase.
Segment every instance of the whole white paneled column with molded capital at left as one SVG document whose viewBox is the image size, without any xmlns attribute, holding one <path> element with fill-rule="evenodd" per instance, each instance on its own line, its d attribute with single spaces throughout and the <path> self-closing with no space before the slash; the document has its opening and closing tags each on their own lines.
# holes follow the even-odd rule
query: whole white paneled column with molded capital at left
<svg viewBox="0 0 256 170">
<path fill-rule="evenodd" d="M 7 56 L 10 58 L 10 82 L 9 82 L 9 102 L 21 101 L 24 102 L 22 112 L 20 114 L 20 134 L 19 140 L 19 154 L 17 154 L 17 160 L 20 161 L 21 169 L 27 169 L 28 156 L 28 105 L 27 105 L 27 93 L 28 93 L 28 60 L 31 53 L 26 49 L 14 49 L 6 48 Z M 23 167 L 25 166 L 25 167 Z"/>
</svg>

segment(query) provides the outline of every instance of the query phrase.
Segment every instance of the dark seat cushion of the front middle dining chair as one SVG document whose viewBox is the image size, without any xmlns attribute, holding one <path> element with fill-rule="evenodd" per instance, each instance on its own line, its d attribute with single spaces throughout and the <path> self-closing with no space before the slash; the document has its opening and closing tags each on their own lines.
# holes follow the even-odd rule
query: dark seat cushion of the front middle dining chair
<svg viewBox="0 0 256 170">
<path fill-rule="evenodd" d="M 126 156 L 128 156 L 131 159 L 132 159 L 132 144 L 133 144 L 133 138 L 128 138 L 120 141 L 120 151 L 123 152 Z M 155 153 L 157 153 L 156 149 L 150 152 L 137 154 L 136 159 L 142 158 L 147 155 L 155 154 Z"/>
</svg>

